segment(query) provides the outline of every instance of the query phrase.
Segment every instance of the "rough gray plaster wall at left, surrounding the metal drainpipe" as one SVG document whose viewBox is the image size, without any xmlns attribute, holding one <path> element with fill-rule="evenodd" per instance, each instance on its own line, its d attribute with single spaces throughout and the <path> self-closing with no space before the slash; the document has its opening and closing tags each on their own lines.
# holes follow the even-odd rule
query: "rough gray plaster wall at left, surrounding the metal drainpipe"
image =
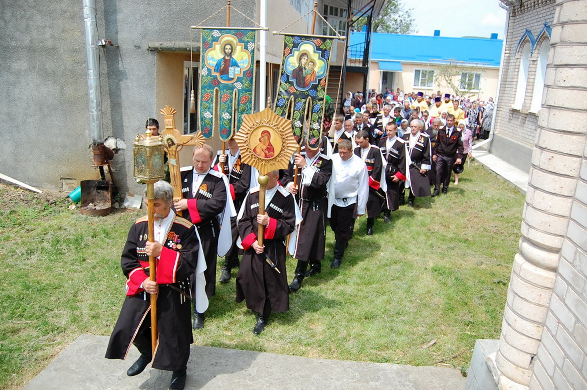
<svg viewBox="0 0 587 390">
<path fill-rule="evenodd" d="M 132 178 L 134 135 L 162 108 L 156 107 L 157 54 L 147 50 L 148 43 L 189 41 L 190 26 L 223 5 L 97 0 L 99 38 L 119 45 L 100 49 L 100 76 L 104 137 L 127 143 L 126 151 L 114 157 L 123 191 L 127 185 L 138 189 Z M 254 0 L 233 0 L 232 5 L 255 18 Z M 60 188 L 62 177 L 97 178 L 88 148 L 82 2 L 4 0 L 0 21 L 0 122 L 5 128 L 0 172 L 41 188 Z M 206 24 L 214 23 L 223 25 L 225 13 Z M 231 13 L 232 23 L 252 24 L 237 12 Z"/>
</svg>

